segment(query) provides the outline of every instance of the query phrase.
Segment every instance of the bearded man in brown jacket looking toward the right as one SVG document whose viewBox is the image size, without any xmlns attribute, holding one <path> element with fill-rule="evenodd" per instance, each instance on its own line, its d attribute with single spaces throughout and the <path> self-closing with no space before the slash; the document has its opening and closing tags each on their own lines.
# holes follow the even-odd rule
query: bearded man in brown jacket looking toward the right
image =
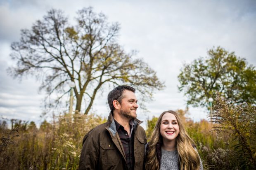
<svg viewBox="0 0 256 170">
<path fill-rule="evenodd" d="M 142 121 L 136 119 L 135 88 L 114 88 L 108 103 L 108 121 L 83 138 L 79 170 L 142 170 L 147 141 Z"/>
</svg>

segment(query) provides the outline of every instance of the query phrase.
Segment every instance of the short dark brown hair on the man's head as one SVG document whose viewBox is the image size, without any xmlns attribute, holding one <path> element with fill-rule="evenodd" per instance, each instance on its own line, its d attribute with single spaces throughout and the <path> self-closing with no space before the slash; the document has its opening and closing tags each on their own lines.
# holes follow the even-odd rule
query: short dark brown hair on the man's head
<svg viewBox="0 0 256 170">
<path fill-rule="evenodd" d="M 117 100 L 121 104 L 121 101 L 124 98 L 123 93 L 125 90 L 132 91 L 133 93 L 135 93 L 136 91 L 136 89 L 131 86 L 118 86 L 109 92 L 109 95 L 107 96 L 107 101 L 109 103 L 109 108 L 111 111 L 115 109 L 113 105 L 114 100 Z"/>
</svg>

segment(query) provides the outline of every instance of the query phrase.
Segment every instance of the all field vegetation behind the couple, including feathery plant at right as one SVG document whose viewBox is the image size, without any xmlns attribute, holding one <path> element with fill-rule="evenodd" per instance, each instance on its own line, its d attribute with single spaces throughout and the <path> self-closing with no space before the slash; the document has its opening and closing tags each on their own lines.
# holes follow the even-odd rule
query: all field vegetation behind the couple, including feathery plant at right
<svg viewBox="0 0 256 170">
<path fill-rule="evenodd" d="M 256 168 L 255 106 L 236 105 L 217 95 L 212 122 L 193 122 L 186 117 L 187 110 L 177 112 L 197 146 L 204 169 Z M 147 120 L 148 139 L 156 120 Z M 53 117 L 51 123 L 44 121 L 40 128 L 34 122 L 12 120 L 12 129 L 1 121 L 0 169 L 75 170 L 83 136 L 105 121 L 96 115 L 64 114 Z"/>
</svg>

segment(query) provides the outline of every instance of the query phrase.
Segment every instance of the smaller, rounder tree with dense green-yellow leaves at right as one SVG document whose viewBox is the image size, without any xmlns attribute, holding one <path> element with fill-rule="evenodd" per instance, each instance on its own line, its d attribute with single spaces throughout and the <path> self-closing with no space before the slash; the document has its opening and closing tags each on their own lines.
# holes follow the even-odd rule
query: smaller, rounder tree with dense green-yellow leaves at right
<svg viewBox="0 0 256 170">
<path fill-rule="evenodd" d="M 216 91 L 238 103 L 256 103 L 255 67 L 221 47 L 210 49 L 205 58 L 184 64 L 178 80 L 187 105 L 207 106 L 208 99 L 216 97 Z"/>
</svg>

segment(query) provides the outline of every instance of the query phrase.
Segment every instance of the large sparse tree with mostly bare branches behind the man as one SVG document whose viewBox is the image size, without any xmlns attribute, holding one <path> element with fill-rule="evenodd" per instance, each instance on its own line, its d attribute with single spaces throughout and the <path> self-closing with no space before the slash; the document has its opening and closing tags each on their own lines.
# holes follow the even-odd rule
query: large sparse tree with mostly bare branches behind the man
<svg viewBox="0 0 256 170">
<path fill-rule="evenodd" d="M 57 94 L 55 106 L 75 82 L 76 111 L 84 114 L 92 107 L 96 93 L 109 86 L 130 85 L 151 100 L 154 90 L 162 89 L 156 72 L 142 59 L 133 59 L 135 52 L 126 53 L 117 42 L 119 23 L 108 23 L 107 17 L 92 11 L 78 11 L 76 24 L 71 25 L 60 10 L 52 9 L 30 30 L 21 30 L 19 42 L 13 42 L 11 57 L 17 61 L 9 68 L 13 77 L 31 74 L 42 80 L 40 89 L 50 98 Z M 105 85 L 105 86 L 104 86 Z M 55 95 L 56 96 L 56 95 Z M 47 100 L 45 100 L 47 101 Z"/>
</svg>

